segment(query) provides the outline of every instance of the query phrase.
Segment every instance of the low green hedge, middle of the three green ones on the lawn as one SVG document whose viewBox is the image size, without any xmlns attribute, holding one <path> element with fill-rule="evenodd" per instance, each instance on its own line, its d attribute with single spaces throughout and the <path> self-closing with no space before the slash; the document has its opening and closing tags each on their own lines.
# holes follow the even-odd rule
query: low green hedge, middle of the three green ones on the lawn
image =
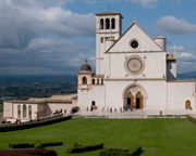
<svg viewBox="0 0 196 156">
<path fill-rule="evenodd" d="M 77 143 L 71 144 L 66 148 L 66 153 L 73 154 L 73 153 L 82 153 L 82 152 L 88 152 L 88 151 L 96 151 L 103 148 L 103 144 L 96 144 L 96 145 L 78 145 Z"/>
</svg>

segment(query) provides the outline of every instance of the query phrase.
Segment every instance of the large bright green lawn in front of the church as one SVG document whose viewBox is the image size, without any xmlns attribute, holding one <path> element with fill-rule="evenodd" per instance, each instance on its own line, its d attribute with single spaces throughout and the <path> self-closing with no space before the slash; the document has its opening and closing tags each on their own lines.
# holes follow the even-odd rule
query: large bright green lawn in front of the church
<svg viewBox="0 0 196 156">
<path fill-rule="evenodd" d="M 196 153 L 196 125 L 186 119 L 72 119 L 28 130 L 1 132 L 0 148 L 9 148 L 9 143 L 35 140 L 63 141 L 62 146 L 49 147 L 57 151 L 58 156 L 68 155 L 65 147 L 73 142 L 103 143 L 106 147 L 124 148 L 142 145 L 142 156 L 193 156 Z M 77 156 L 98 156 L 98 153 Z"/>
</svg>

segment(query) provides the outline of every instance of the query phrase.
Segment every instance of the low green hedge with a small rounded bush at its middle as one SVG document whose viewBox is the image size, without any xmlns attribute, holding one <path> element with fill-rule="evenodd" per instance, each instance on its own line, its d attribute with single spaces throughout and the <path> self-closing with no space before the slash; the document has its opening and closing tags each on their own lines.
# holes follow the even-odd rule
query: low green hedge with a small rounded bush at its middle
<svg viewBox="0 0 196 156">
<path fill-rule="evenodd" d="M 62 145 L 63 143 L 61 141 L 56 141 L 56 142 L 45 142 L 41 143 L 40 141 L 35 141 L 35 143 L 10 143 L 9 146 L 12 148 L 44 148 L 47 146 L 58 146 Z"/>
</svg>

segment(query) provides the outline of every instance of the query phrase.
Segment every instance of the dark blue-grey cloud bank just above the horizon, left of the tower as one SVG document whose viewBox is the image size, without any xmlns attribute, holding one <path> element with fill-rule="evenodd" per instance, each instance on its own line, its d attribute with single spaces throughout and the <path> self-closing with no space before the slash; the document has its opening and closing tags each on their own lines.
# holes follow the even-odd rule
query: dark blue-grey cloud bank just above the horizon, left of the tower
<svg viewBox="0 0 196 156">
<path fill-rule="evenodd" d="M 34 39 L 22 50 L 1 49 L 0 74 L 76 74 L 94 49 L 83 41 Z"/>
</svg>

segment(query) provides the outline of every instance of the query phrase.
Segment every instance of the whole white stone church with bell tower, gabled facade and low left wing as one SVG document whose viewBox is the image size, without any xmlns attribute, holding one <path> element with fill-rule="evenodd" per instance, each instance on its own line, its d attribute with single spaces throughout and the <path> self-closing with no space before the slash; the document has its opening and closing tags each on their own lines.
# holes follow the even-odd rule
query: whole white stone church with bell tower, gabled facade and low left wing
<svg viewBox="0 0 196 156">
<path fill-rule="evenodd" d="M 167 53 L 167 39 L 150 38 L 134 20 L 122 34 L 120 13 L 96 14 L 96 73 L 87 61 L 77 73 L 77 94 L 4 102 L 3 117 L 28 120 L 70 112 L 172 110 L 195 114 L 196 83 L 176 80 L 175 54 Z"/>
</svg>

